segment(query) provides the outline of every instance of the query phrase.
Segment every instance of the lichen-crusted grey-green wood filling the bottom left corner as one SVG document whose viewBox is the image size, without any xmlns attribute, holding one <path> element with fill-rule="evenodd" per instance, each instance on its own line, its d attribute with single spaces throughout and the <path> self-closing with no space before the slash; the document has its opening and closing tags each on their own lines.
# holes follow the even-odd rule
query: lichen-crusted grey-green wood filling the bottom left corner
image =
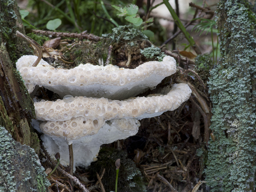
<svg viewBox="0 0 256 192">
<path fill-rule="evenodd" d="M 8 131 L 1 126 L 0 143 L 0 191 L 46 192 L 50 182 L 46 179 L 44 168 L 34 149 L 14 141 Z M 24 160 L 26 158 L 30 160 Z"/>
</svg>

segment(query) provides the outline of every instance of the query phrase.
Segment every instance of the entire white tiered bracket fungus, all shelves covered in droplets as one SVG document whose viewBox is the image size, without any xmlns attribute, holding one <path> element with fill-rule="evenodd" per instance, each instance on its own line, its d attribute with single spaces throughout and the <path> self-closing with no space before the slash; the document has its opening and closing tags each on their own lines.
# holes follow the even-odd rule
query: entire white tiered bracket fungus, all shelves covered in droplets
<svg viewBox="0 0 256 192">
<path fill-rule="evenodd" d="M 24 58 L 29 59 L 28 63 Z M 155 95 L 129 98 L 176 72 L 176 61 L 170 56 L 135 69 L 91 64 L 54 69 L 42 60 L 41 65 L 29 67 L 36 59 L 23 56 L 16 64 L 28 89 L 42 85 L 60 96 L 68 94 L 63 100 L 34 104 L 37 120 L 43 121 L 37 127 L 44 133 L 43 144 L 52 157 L 60 153 L 63 165 L 69 162 L 67 143 L 73 145 L 74 167 L 88 166 L 96 160 L 102 144 L 135 135 L 140 126 L 138 120 L 175 110 L 191 94 L 189 86 L 181 83 Z"/>
</svg>

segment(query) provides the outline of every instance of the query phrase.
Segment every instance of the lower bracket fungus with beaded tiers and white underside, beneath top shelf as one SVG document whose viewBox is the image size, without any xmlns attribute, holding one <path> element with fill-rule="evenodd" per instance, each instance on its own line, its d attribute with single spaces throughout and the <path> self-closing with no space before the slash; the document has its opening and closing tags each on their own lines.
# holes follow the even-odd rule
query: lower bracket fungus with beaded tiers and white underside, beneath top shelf
<svg viewBox="0 0 256 192">
<path fill-rule="evenodd" d="M 39 128 L 47 135 L 42 138 L 47 151 L 51 151 L 52 156 L 59 152 L 63 160 L 61 163 L 68 165 L 68 156 L 62 156 L 68 148 L 61 142 L 73 143 L 74 154 L 77 153 L 75 165 L 88 166 L 95 160 L 101 144 L 135 135 L 140 126 L 138 120 L 175 110 L 188 100 L 190 94 L 189 86 L 181 83 L 174 84 L 166 95 L 124 101 L 68 95 L 63 100 L 43 100 L 34 105 L 37 119 L 45 121 Z M 86 151 L 86 155 L 79 150 Z"/>
</svg>

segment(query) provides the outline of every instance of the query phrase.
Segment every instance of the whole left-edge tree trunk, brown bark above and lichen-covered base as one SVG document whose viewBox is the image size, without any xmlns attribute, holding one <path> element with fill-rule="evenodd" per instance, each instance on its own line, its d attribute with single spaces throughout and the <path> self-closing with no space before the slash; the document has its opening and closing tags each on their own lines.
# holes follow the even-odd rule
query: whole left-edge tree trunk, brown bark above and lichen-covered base
<svg viewBox="0 0 256 192">
<path fill-rule="evenodd" d="M 16 30 L 24 33 L 17 3 L 0 0 L 0 191 L 44 192 L 50 183 L 35 153 L 38 136 L 30 130 L 34 104 L 13 68 L 20 55 L 31 51 Z"/>
</svg>

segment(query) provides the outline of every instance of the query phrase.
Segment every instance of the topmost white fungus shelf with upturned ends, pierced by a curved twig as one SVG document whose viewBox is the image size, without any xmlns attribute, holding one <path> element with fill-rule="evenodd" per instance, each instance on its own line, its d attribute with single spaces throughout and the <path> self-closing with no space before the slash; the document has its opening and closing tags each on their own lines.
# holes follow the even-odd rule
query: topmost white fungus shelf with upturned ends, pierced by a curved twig
<svg viewBox="0 0 256 192">
<path fill-rule="evenodd" d="M 135 69 L 113 65 L 80 64 L 72 69 L 54 68 L 44 60 L 31 67 L 36 56 L 22 56 L 16 63 L 29 93 L 36 85 L 43 86 L 60 97 L 65 95 L 127 99 L 155 87 L 165 77 L 176 72 L 176 61 L 170 56 L 162 62 L 149 61 Z"/>
</svg>

